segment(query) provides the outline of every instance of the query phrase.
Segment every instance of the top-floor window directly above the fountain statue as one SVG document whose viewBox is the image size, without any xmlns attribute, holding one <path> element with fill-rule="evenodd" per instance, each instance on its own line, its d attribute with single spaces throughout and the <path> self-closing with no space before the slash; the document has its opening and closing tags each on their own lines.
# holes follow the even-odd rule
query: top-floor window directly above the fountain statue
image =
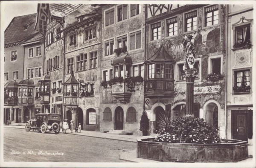
<svg viewBox="0 0 256 168">
<path fill-rule="evenodd" d="M 197 29 L 197 11 L 185 14 L 185 31 Z"/>
</svg>

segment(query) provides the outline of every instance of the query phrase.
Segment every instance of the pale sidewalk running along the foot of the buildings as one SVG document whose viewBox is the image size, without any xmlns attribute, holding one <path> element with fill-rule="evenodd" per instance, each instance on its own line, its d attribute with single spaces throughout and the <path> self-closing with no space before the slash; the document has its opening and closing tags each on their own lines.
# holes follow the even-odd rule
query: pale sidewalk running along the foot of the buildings
<svg viewBox="0 0 256 168">
<path fill-rule="evenodd" d="M 4 127 L 25 129 L 25 126 L 17 126 L 17 125 L 4 125 Z M 62 131 L 60 131 L 60 133 L 64 134 L 64 132 Z M 102 138 L 102 139 L 108 139 L 108 140 L 120 140 L 125 142 L 134 142 L 134 143 L 137 143 L 138 138 L 154 137 L 154 136 L 136 136 L 136 135 L 115 135 L 115 134 L 107 134 L 99 131 L 84 131 L 84 130 L 81 130 L 81 133 L 75 132 L 75 130 L 73 131 L 73 133 L 71 133 L 70 130 L 67 130 L 66 134 L 96 137 L 96 138 Z"/>
</svg>

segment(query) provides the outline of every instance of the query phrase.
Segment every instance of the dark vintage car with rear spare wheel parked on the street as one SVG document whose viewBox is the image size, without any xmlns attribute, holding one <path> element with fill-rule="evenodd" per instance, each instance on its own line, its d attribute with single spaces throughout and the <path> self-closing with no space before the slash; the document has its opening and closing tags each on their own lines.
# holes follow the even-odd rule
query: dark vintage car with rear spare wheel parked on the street
<svg viewBox="0 0 256 168">
<path fill-rule="evenodd" d="M 60 132 L 61 114 L 39 113 L 35 114 L 35 119 L 26 122 L 25 130 L 38 130 L 45 133 L 47 130 L 54 131 L 56 134 Z"/>
</svg>

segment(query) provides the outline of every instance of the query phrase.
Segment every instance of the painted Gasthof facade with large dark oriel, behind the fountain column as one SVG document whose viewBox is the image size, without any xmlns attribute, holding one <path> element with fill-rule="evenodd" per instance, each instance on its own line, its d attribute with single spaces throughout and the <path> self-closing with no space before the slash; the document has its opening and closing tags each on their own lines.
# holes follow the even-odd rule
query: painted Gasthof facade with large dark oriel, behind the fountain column
<svg viewBox="0 0 256 168">
<path fill-rule="evenodd" d="M 151 133 L 163 111 L 171 120 L 186 115 L 186 68 L 183 38 L 192 35 L 194 114 L 225 137 L 225 15 L 224 5 L 148 5 L 146 13 L 145 109 Z"/>
</svg>

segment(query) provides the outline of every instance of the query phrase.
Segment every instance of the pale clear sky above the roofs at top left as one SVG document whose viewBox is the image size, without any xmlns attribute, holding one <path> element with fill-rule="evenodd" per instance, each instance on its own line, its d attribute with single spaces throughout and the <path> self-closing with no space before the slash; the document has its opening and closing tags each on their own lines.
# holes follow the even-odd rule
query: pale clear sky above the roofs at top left
<svg viewBox="0 0 256 168">
<path fill-rule="evenodd" d="M 37 13 L 37 3 L 23 3 L 22 1 L 2 1 L 1 6 L 2 5 L 4 9 L 2 11 L 3 13 L 1 12 L 1 14 L 4 15 L 4 19 L 3 22 L 1 22 L 3 24 L 1 25 L 1 28 L 4 30 L 7 28 L 14 17 Z"/>
</svg>

